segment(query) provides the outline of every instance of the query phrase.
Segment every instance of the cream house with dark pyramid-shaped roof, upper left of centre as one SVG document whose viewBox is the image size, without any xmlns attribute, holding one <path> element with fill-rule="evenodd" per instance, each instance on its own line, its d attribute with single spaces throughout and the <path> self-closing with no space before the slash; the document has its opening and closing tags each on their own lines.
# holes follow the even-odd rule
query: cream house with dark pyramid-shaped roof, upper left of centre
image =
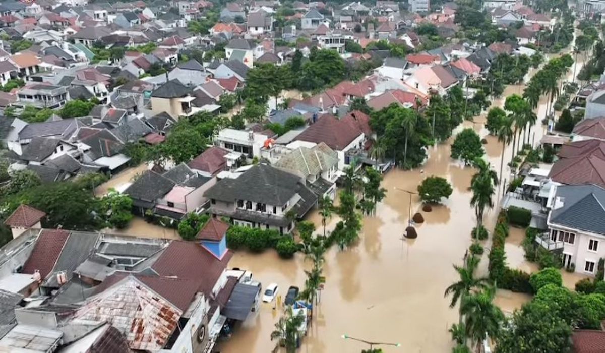
<svg viewBox="0 0 605 353">
<path fill-rule="evenodd" d="M 151 92 L 151 111 L 168 113 L 174 119 L 193 114 L 191 102 L 195 99 L 191 88 L 178 80 L 169 80 Z"/>
</svg>

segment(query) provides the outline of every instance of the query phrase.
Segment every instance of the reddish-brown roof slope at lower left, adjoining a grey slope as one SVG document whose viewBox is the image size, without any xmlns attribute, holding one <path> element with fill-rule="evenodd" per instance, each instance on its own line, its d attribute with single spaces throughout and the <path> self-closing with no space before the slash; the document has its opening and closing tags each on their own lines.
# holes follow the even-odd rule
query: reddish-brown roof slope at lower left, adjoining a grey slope
<svg viewBox="0 0 605 353">
<path fill-rule="evenodd" d="M 37 269 L 42 279 L 45 279 L 53 270 L 69 235 L 64 229 L 42 230 L 30 257 L 23 265 L 23 273 L 33 274 Z"/>
</svg>

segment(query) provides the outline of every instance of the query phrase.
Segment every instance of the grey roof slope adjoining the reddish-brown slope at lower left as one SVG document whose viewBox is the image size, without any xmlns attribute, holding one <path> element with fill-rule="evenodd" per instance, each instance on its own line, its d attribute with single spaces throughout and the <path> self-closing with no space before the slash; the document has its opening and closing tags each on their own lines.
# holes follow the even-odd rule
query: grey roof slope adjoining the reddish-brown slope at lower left
<svg viewBox="0 0 605 353">
<path fill-rule="evenodd" d="M 99 239 L 99 234 L 92 232 L 71 232 L 67 238 L 63 250 L 46 280 L 45 286 L 59 287 L 57 282 L 57 272 L 65 271 L 67 280 L 71 279 L 72 271 L 91 256 L 94 252 L 94 246 Z"/>
</svg>

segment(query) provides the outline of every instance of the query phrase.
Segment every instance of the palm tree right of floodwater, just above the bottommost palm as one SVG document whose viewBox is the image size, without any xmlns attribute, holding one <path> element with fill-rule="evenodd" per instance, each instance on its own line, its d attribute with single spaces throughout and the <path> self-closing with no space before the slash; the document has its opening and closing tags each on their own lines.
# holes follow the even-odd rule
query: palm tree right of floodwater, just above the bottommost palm
<svg viewBox="0 0 605 353">
<path fill-rule="evenodd" d="M 454 269 L 458 272 L 460 276 L 460 280 L 458 282 L 452 283 L 448 288 L 445 289 L 444 297 L 448 295 L 452 295 L 452 301 L 450 303 L 450 308 L 454 308 L 456 303 L 460 303 L 460 308 L 462 308 L 463 300 L 471 293 L 471 291 L 483 289 L 489 282 L 489 279 L 475 278 L 475 270 L 479 266 L 479 259 L 474 256 L 470 256 L 466 258 L 465 266 L 457 266 L 454 265 Z M 458 327 L 462 326 L 462 311 L 459 311 L 460 320 Z"/>
</svg>

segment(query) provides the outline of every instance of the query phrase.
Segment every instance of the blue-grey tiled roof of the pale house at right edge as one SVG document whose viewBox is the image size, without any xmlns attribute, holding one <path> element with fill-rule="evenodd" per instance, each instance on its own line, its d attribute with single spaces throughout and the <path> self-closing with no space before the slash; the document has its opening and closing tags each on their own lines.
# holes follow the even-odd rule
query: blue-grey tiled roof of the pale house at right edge
<svg viewBox="0 0 605 353">
<path fill-rule="evenodd" d="M 605 235 L 605 189 L 594 184 L 560 185 L 555 197 L 563 206 L 551 211 L 551 223 Z"/>
</svg>

